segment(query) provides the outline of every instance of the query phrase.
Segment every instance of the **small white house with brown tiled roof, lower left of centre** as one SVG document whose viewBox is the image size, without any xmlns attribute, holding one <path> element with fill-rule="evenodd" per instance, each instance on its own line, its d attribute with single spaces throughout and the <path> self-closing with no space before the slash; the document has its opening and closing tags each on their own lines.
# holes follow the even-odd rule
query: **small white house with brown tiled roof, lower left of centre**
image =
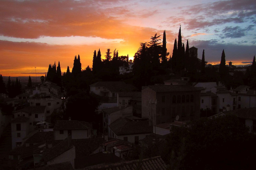
<svg viewBox="0 0 256 170">
<path fill-rule="evenodd" d="M 56 121 L 53 128 L 54 139 L 63 140 L 68 134 L 71 134 L 72 139 L 91 138 L 91 128 L 92 125 L 84 121 Z"/>
</svg>

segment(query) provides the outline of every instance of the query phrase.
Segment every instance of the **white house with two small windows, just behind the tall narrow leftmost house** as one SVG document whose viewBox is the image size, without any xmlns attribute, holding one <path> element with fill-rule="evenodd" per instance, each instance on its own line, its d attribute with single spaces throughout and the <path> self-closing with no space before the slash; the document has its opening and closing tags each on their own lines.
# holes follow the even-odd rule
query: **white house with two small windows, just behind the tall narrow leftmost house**
<svg viewBox="0 0 256 170">
<path fill-rule="evenodd" d="M 20 116 L 29 118 L 30 131 L 35 130 L 36 124 L 46 119 L 46 106 L 29 106 L 14 112 L 14 118 Z"/>
</svg>

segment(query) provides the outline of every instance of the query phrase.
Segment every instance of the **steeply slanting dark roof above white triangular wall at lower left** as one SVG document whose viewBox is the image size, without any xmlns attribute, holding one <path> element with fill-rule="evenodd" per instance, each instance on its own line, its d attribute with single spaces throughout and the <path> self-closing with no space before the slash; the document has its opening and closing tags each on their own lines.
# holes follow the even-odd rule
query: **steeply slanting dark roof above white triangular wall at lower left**
<svg viewBox="0 0 256 170">
<path fill-rule="evenodd" d="M 61 155 L 62 153 L 68 151 L 74 147 L 72 144 L 69 145 L 68 139 L 62 140 L 60 143 L 56 144 L 55 146 L 43 151 L 43 158 L 45 162 L 48 162 L 55 157 Z"/>
</svg>

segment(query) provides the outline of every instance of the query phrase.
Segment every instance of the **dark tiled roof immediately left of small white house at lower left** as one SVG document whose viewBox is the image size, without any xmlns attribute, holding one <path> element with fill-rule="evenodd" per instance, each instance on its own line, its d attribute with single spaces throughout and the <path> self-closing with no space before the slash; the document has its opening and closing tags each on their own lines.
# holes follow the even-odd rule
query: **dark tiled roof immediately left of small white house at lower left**
<svg viewBox="0 0 256 170">
<path fill-rule="evenodd" d="M 26 140 L 26 143 L 39 143 L 42 141 L 54 140 L 53 131 L 39 131 Z"/>
</svg>

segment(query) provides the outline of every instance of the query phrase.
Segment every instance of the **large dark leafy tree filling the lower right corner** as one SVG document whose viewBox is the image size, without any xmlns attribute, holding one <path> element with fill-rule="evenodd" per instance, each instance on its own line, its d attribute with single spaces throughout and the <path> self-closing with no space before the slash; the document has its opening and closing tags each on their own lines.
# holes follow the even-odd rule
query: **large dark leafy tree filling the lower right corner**
<svg viewBox="0 0 256 170">
<path fill-rule="evenodd" d="M 248 169 L 255 158 L 256 136 L 235 114 L 200 118 L 185 127 L 172 127 L 166 140 L 162 158 L 175 165 L 173 161 L 177 159 L 171 158 L 181 156 L 179 168 L 172 169 Z"/>
</svg>

